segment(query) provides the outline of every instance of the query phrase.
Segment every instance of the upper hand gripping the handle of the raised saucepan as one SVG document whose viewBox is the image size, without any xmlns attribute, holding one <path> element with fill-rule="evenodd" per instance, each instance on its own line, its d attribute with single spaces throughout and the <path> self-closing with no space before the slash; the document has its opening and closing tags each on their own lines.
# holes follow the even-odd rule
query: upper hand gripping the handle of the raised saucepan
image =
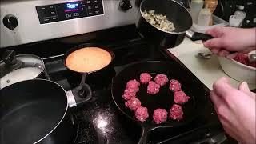
<svg viewBox="0 0 256 144">
<path fill-rule="evenodd" d="M 226 56 L 230 51 L 250 51 L 255 49 L 256 29 L 241 29 L 218 26 L 207 30 L 214 38 L 204 42 L 214 54 Z"/>
</svg>

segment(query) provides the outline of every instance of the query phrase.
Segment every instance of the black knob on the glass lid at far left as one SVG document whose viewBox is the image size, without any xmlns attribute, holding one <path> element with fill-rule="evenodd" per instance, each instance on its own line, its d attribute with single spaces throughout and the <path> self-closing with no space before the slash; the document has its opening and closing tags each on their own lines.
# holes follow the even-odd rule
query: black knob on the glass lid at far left
<svg viewBox="0 0 256 144">
<path fill-rule="evenodd" d="M 7 66 L 15 65 L 17 63 L 16 53 L 14 50 L 6 50 L 2 54 L 2 60 L 6 63 Z"/>
</svg>

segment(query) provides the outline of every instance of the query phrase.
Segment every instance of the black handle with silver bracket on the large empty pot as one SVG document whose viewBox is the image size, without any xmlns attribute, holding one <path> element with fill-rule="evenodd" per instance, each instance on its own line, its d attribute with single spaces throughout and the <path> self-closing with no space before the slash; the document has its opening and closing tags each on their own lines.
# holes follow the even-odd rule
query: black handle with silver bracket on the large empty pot
<svg viewBox="0 0 256 144">
<path fill-rule="evenodd" d="M 66 92 L 69 107 L 82 105 L 92 97 L 92 90 L 90 86 L 85 83 L 85 80 L 86 74 L 82 74 L 80 85 Z"/>
</svg>

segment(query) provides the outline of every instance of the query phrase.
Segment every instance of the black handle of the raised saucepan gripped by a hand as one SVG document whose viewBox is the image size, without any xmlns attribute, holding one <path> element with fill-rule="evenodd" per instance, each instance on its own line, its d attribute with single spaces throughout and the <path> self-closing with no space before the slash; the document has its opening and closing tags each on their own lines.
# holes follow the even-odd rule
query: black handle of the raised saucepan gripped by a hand
<svg viewBox="0 0 256 144">
<path fill-rule="evenodd" d="M 194 32 L 192 30 L 187 30 L 186 36 L 188 38 L 190 38 L 192 41 L 197 41 L 197 40 L 207 41 L 209 39 L 214 38 L 209 34 L 198 33 L 198 32 Z"/>
</svg>

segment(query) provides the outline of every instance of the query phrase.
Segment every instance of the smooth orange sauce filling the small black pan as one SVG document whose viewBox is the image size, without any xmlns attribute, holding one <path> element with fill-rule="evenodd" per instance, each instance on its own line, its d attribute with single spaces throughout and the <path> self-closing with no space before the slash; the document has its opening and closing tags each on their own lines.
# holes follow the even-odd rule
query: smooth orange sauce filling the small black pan
<svg viewBox="0 0 256 144">
<path fill-rule="evenodd" d="M 88 73 L 106 67 L 111 60 L 108 51 L 98 47 L 85 47 L 69 54 L 66 58 L 66 66 L 70 70 Z"/>
</svg>

